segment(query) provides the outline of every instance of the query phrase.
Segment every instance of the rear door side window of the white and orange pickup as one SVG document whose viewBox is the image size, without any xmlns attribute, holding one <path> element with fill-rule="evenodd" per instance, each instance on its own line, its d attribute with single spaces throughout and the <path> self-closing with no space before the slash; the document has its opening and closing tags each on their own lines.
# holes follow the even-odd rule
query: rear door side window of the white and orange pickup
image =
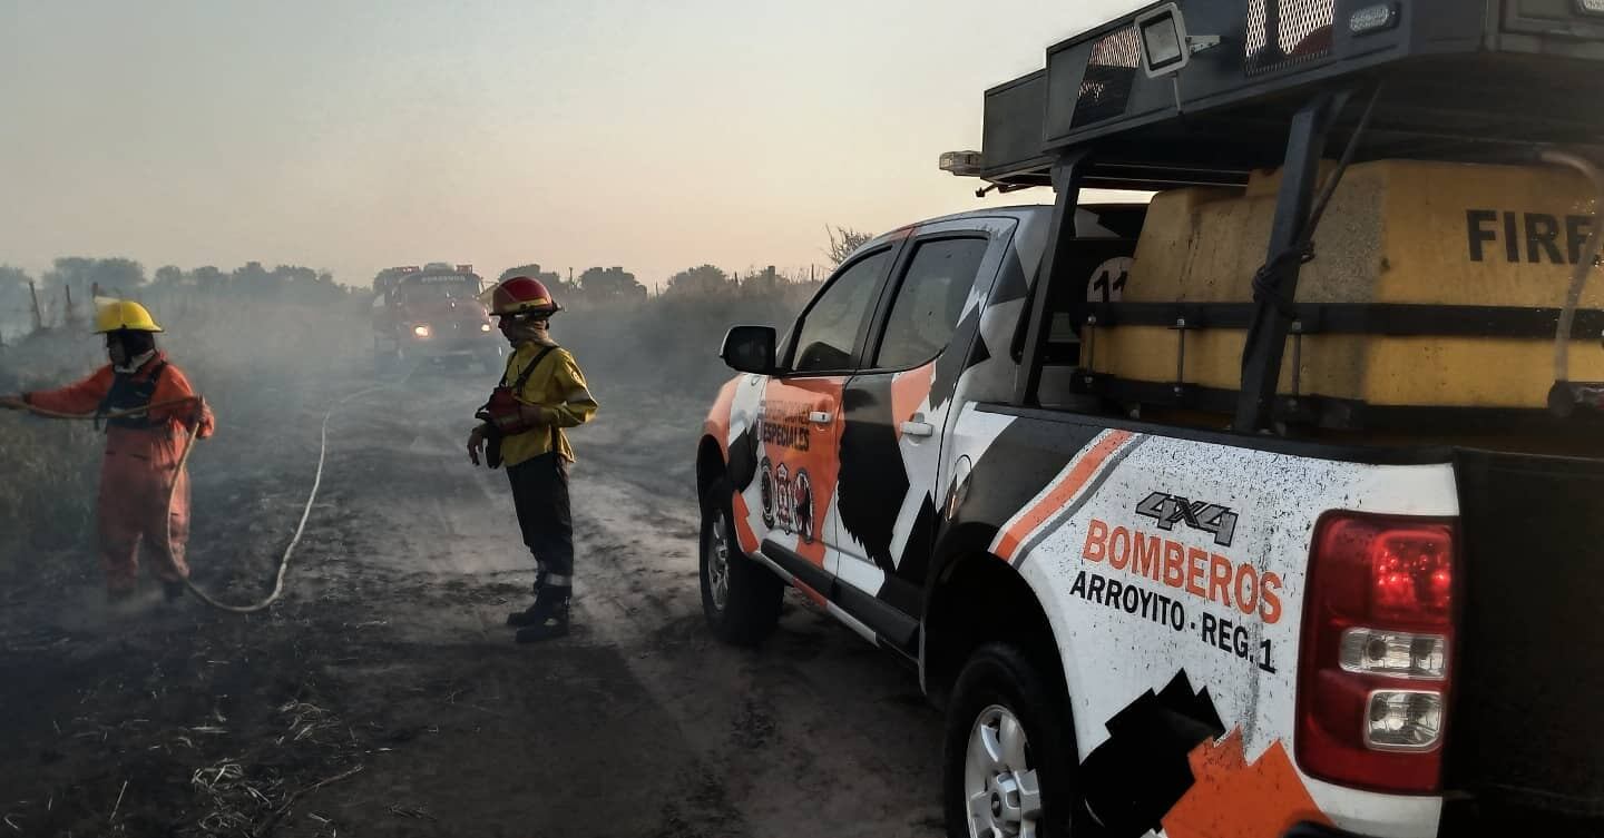
<svg viewBox="0 0 1604 838">
<path fill-rule="evenodd" d="M 988 239 L 922 242 L 908 263 L 874 369 L 906 370 L 935 359 L 953 340 Z"/>
</svg>

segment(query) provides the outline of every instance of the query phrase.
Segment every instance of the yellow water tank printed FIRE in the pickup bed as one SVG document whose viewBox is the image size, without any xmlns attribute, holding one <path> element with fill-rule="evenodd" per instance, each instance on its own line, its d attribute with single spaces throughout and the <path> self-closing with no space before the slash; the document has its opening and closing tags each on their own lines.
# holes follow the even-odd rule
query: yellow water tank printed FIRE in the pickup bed
<svg viewBox="0 0 1604 838">
<path fill-rule="evenodd" d="M 1156 195 L 1142 228 L 1124 303 L 1250 303 L 1275 215 L 1278 173 L 1246 191 Z M 1564 170 L 1381 160 L 1352 167 L 1302 266 L 1298 303 L 1546 308 L 1564 304 L 1591 231 L 1594 199 Z M 1604 276 L 1582 308 L 1604 308 Z M 1412 317 L 1432 317 L 1429 309 Z M 1113 320 L 1118 324 L 1118 317 Z M 1185 333 L 1182 381 L 1240 389 L 1245 330 Z M 1096 330 L 1091 367 L 1174 383 L 1181 333 L 1161 325 Z M 1310 333 L 1298 394 L 1371 405 L 1530 407 L 1553 383 L 1548 336 L 1384 336 Z M 1604 380 L 1598 338 L 1572 341 L 1570 378 Z M 1293 393 L 1291 340 L 1280 393 Z"/>
</svg>

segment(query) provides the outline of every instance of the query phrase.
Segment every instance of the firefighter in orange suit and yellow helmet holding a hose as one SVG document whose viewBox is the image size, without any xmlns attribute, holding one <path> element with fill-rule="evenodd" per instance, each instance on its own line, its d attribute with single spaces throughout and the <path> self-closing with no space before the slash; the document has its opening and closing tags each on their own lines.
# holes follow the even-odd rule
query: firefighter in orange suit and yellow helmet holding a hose
<svg viewBox="0 0 1604 838">
<path fill-rule="evenodd" d="M 13 410 L 106 417 L 98 519 L 112 601 L 133 593 L 141 542 L 167 599 L 183 594 L 189 575 L 184 562 L 189 479 L 180 469 L 180 458 L 189 431 L 210 436 L 213 420 L 184 373 L 156 348 L 160 330 L 140 303 L 104 301 L 95 316 L 95 333 L 106 335 L 111 364 L 61 389 L 0 397 L 0 407 Z M 156 407 L 144 415 L 107 417 L 151 405 Z"/>
</svg>

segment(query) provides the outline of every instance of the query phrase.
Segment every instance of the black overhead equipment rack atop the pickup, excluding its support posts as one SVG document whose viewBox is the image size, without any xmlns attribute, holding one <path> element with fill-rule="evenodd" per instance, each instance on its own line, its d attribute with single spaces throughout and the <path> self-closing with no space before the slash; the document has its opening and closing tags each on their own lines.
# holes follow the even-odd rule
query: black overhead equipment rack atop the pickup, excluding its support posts
<svg viewBox="0 0 1604 838">
<path fill-rule="evenodd" d="M 980 165 L 966 173 L 1051 186 L 1057 157 L 1096 149 L 1083 186 L 1243 184 L 1282 165 L 1286 125 L 1310 96 L 1376 83 L 1355 162 L 1529 160 L 1533 144 L 1598 144 L 1604 0 L 1160 3 L 1049 46 L 1046 69 L 988 90 Z M 1357 123 L 1335 115 L 1328 147 L 1346 147 Z"/>
</svg>

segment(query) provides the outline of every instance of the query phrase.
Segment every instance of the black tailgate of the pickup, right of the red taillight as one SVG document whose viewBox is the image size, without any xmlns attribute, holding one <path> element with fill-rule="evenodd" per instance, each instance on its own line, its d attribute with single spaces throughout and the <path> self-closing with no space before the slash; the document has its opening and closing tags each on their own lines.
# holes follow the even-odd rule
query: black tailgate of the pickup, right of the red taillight
<svg viewBox="0 0 1604 838">
<path fill-rule="evenodd" d="M 1455 471 L 1450 800 L 1487 819 L 1604 817 L 1604 461 L 1464 450 Z"/>
</svg>

